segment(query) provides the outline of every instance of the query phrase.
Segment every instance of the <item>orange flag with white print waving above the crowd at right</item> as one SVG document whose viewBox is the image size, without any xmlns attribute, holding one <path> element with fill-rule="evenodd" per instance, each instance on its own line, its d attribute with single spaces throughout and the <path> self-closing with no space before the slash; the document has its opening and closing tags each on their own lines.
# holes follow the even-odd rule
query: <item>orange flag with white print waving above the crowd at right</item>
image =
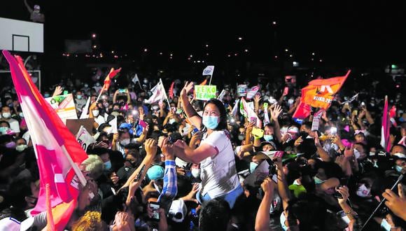
<svg viewBox="0 0 406 231">
<path fill-rule="evenodd" d="M 311 80 L 309 85 L 302 88 L 300 101 L 315 108 L 328 109 L 350 72 L 345 76 Z"/>
</svg>

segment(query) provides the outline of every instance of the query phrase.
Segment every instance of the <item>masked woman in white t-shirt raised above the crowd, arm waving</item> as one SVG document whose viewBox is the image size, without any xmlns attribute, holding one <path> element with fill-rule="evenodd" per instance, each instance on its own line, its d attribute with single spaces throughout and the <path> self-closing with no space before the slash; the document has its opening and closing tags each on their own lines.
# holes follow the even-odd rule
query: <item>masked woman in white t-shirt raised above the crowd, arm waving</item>
<svg viewBox="0 0 406 231">
<path fill-rule="evenodd" d="M 195 164 L 200 163 L 202 187 L 197 193 L 197 200 L 204 202 L 216 197 L 223 197 L 232 208 L 235 200 L 243 190 L 239 184 L 235 169 L 235 156 L 227 129 L 225 107 L 218 99 L 210 99 L 204 105 L 200 117 L 188 100 L 188 92 L 193 83 L 186 83 L 181 91 L 183 110 L 190 122 L 200 131 L 203 139 L 196 149 L 189 148 L 184 141 L 176 141 L 176 156 Z"/>
</svg>

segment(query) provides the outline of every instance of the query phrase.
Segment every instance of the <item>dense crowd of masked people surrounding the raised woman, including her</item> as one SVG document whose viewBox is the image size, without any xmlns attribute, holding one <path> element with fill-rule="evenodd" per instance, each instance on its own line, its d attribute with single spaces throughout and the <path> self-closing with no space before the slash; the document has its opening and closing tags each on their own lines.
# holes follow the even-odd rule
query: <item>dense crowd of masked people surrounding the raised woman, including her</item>
<svg viewBox="0 0 406 231">
<path fill-rule="evenodd" d="M 98 101 L 100 80 L 56 87 L 54 96 L 62 87 L 73 93 L 78 116 L 90 98 L 89 132 L 96 140 L 80 164 L 87 184 L 66 230 L 406 228 L 405 180 L 395 184 L 406 171 L 402 92 L 390 103 L 386 152 L 377 84 L 358 85 L 352 101 L 352 94 L 339 92 L 312 130 L 316 109 L 305 120 L 293 119 L 299 86 L 286 83 L 284 91 L 283 81 L 261 83 L 247 100 L 261 120 L 256 123 L 233 110 L 239 104 L 235 87 L 218 85 L 223 97 L 204 102 L 194 98 L 198 83 L 174 80 L 174 97 L 153 104 L 144 103 L 153 94 L 147 79 L 129 79 L 120 89 L 112 83 Z M 29 213 L 40 177 L 13 87 L 1 91 L 0 132 L 0 230 L 42 230 L 46 213 Z"/>
</svg>

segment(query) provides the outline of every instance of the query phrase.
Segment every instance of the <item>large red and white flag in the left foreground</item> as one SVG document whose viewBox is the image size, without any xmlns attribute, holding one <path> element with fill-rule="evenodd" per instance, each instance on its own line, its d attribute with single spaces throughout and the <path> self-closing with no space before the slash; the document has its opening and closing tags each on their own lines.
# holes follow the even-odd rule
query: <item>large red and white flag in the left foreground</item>
<svg viewBox="0 0 406 231">
<path fill-rule="evenodd" d="M 47 211 L 48 228 L 64 230 L 76 206 L 78 180 L 83 185 L 86 183 L 78 165 L 87 154 L 32 83 L 21 57 L 13 57 L 7 50 L 3 50 L 3 55 L 10 65 L 38 162 L 40 190 L 31 214 Z M 61 209 L 59 205 L 65 207 Z"/>
</svg>

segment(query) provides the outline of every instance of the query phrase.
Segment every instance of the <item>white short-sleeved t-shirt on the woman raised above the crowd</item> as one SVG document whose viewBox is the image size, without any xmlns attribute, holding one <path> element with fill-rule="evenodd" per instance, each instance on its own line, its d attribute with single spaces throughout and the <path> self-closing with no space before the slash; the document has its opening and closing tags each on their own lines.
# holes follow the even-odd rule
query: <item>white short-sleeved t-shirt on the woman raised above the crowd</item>
<svg viewBox="0 0 406 231">
<path fill-rule="evenodd" d="M 221 197 L 239 186 L 230 138 L 224 131 L 214 131 L 209 136 L 204 134 L 202 144 L 209 144 L 217 151 L 216 155 L 200 162 L 202 195 Z"/>
</svg>

